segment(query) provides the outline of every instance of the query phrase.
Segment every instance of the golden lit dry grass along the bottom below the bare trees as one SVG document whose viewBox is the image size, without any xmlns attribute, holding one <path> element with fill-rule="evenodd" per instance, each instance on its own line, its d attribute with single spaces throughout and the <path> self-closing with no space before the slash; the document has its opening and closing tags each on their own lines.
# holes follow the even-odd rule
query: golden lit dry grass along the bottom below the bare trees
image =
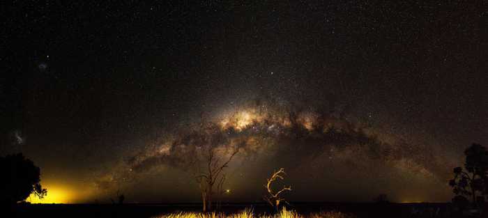
<svg viewBox="0 0 488 218">
<path fill-rule="evenodd" d="M 283 208 L 283 210 L 275 215 L 254 215 L 252 210 L 245 209 L 233 214 L 225 214 L 223 212 L 175 212 L 153 218 L 356 218 L 356 216 L 337 211 L 323 211 L 304 216 L 294 210 Z"/>
</svg>

